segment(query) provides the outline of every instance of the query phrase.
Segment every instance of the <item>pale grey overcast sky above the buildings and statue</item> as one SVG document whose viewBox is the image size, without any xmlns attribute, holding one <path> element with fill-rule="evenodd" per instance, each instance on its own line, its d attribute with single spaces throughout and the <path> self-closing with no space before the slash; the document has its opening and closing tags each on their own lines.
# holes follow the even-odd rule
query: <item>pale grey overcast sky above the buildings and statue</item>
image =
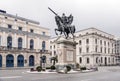
<svg viewBox="0 0 120 81">
<path fill-rule="evenodd" d="M 48 7 L 60 16 L 63 12 L 72 14 L 77 30 L 96 27 L 120 36 L 120 0 L 0 0 L 0 9 L 39 21 L 40 26 L 49 28 L 55 36 L 55 15 Z"/>
</svg>

